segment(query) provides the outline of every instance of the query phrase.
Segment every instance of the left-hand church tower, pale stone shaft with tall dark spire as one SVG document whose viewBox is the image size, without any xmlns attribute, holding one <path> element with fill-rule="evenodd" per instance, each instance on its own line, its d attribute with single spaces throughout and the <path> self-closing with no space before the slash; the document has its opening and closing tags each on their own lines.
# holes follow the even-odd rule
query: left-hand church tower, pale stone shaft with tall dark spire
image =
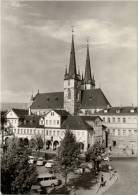
<svg viewBox="0 0 138 195">
<path fill-rule="evenodd" d="M 70 52 L 69 69 L 66 68 L 64 75 L 64 109 L 72 115 L 77 115 L 81 101 L 81 76 L 76 68 L 74 35 Z"/>
</svg>

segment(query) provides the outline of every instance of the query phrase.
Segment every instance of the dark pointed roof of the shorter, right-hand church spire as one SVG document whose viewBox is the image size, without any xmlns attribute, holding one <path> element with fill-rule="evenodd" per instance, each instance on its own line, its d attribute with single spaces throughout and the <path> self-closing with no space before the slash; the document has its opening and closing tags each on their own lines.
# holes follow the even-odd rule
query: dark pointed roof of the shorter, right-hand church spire
<svg viewBox="0 0 138 195">
<path fill-rule="evenodd" d="M 87 41 L 87 56 L 86 56 L 86 66 L 85 66 L 85 76 L 84 76 L 85 83 L 89 83 L 92 81 L 91 75 L 91 64 L 90 64 L 90 55 L 89 55 L 89 44 Z"/>
</svg>

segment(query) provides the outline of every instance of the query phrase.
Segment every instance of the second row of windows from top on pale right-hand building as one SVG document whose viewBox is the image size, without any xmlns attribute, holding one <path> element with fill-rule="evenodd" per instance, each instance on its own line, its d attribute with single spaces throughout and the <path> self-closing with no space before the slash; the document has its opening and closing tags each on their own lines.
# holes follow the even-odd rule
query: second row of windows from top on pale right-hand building
<svg viewBox="0 0 138 195">
<path fill-rule="evenodd" d="M 110 130 L 110 133 L 112 135 L 129 136 L 129 135 L 136 135 L 137 130 L 136 129 L 112 129 Z"/>
</svg>

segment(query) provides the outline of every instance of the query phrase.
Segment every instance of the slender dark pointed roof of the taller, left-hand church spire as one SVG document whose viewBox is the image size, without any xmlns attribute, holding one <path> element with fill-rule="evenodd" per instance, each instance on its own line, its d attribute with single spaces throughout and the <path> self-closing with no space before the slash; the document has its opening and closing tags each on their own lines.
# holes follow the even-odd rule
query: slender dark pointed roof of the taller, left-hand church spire
<svg viewBox="0 0 138 195">
<path fill-rule="evenodd" d="M 74 47 L 74 35 L 72 30 L 72 43 L 70 52 L 70 63 L 69 63 L 69 78 L 75 78 L 77 75 L 76 71 L 76 57 L 75 57 L 75 47 Z"/>
</svg>

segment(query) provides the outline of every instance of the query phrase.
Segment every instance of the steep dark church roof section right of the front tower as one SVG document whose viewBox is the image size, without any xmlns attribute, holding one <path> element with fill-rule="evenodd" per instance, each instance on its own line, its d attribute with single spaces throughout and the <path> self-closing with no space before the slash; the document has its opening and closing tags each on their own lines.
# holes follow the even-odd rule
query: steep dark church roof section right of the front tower
<svg viewBox="0 0 138 195">
<path fill-rule="evenodd" d="M 106 108 L 110 106 L 100 88 L 82 91 L 81 108 Z"/>
</svg>

